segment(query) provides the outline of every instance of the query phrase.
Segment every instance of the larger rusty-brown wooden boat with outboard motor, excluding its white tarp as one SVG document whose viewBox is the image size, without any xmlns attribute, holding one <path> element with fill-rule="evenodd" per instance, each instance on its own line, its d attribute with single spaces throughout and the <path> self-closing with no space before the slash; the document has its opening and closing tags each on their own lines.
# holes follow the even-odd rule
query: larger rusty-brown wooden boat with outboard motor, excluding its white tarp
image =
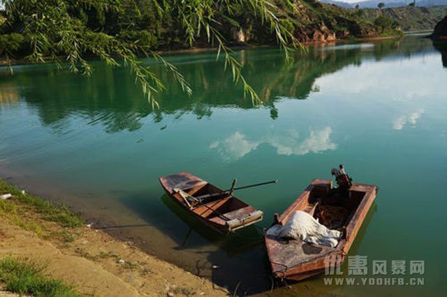
<svg viewBox="0 0 447 297">
<path fill-rule="evenodd" d="M 274 277 L 303 280 L 324 273 L 328 261 L 335 256 L 342 264 L 358 230 L 362 225 L 378 188 L 375 185 L 353 183 L 347 192 L 332 189 L 332 181 L 315 179 L 281 215 L 275 215 L 274 224 L 284 225 L 295 211 L 305 211 L 329 229 L 343 232 L 335 248 L 311 245 L 301 240 L 286 241 L 265 234 L 270 266 Z M 337 258 L 338 256 L 338 258 Z"/>
</svg>

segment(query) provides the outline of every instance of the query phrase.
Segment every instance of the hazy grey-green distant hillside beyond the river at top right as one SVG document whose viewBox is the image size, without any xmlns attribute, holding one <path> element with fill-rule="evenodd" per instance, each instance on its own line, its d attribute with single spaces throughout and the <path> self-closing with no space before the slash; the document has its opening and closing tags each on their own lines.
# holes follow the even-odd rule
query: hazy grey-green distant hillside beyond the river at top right
<svg viewBox="0 0 447 297">
<path fill-rule="evenodd" d="M 403 31 L 418 31 L 432 30 L 447 15 L 447 6 L 369 8 L 364 11 L 367 20 L 373 21 L 380 15 L 385 15 L 400 24 Z"/>
</svg>

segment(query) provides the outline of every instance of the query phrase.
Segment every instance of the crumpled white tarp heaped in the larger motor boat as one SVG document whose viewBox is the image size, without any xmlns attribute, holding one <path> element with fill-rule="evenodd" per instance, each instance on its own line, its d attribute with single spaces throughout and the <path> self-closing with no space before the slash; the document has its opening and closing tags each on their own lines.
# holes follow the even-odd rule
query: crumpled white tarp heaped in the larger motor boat
<svg viewBox="0 0 447 297">
<path fill-rule="evenodd" d="M 332 248 L 335 248 L 339 239 L 342 238 L 342 232 L 328 229 L 304 211 L 295 211 L 284 226 L 275 224 L 268 229 L 267 234 L 281 238 L 301 239 L 306 243 L 327 245 Z"/>
</svg>

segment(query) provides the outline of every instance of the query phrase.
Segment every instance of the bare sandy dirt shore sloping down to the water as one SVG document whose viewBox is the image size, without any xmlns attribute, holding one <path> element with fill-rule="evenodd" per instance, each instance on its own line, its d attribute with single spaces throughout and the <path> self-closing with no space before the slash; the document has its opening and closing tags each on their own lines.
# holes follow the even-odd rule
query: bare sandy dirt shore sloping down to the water
<svg viewBox="0 0 447 297">
<path fill-rule="evenodd" d="M 0 195 L 5 194 L 5 183 L 2 185 Z M 45 220 L 23 204 L 26 195 L 15 192 L 13 198 L 1 201 L 0 259 L 13 256 L 44 263 L 47 275 L 75 285 L 82 294 L 228 295 L 210 280 L 142 252 L 131 242 L 118 241 L 94 226 L 62 227 Z M 5 211 L 10 206 L 15 206 L 18 218 Z"/>
</svg>

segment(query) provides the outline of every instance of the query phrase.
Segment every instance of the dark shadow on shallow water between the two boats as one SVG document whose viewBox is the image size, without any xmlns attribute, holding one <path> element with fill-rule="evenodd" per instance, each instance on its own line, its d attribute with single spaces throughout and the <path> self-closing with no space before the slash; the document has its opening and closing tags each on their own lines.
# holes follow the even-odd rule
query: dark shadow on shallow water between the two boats
<svg viewBox="0 0 447 297">
<path fill-rule="evenodd" d="M 163 195 L 161 201 L 189 227 L 178 250 L 193 248 L 194 243 L 189 241 L 189 236 L 196 232 L 226 254 L 226 257 L 222 257 L 219 251 L 207 254 L 207 262 L 212 268 L 210 278 L 214 284 L 226 287 L 233 295 L 243 296 L 260 294 L 274 287 L 265 256 L 263 229 L 251 225 L 230 234 L 219 234 L 204 226 L 168 195 Z M 203 264 L 197 264 L 197 271 L 203 271 Z"/>
</svg>

